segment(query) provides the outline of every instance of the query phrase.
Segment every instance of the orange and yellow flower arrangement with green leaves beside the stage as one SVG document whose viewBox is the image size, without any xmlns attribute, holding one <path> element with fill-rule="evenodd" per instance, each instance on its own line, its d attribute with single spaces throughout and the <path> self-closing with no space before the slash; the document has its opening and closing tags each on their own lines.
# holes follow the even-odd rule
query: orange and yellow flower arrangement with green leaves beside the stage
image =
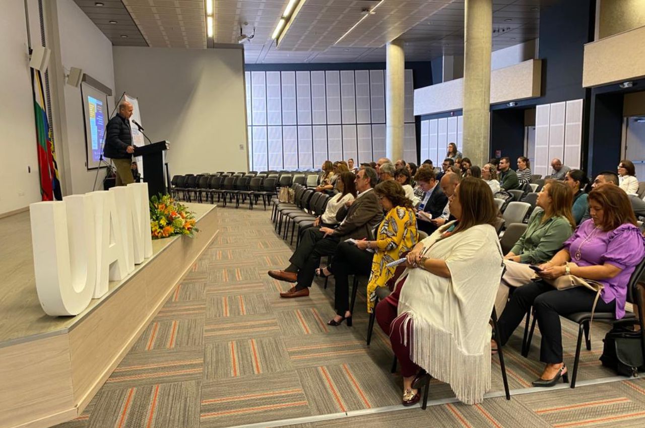
<svg viewBox="0 0 645 428">
<path fill-rule="evenodd" d="M 152 238 L 168 238 L 174 235 L 194 237 L 195 213 L 176 202 L 170 195 L 153 196 L 150 199 L 150 229 Z"/>
</svg>

